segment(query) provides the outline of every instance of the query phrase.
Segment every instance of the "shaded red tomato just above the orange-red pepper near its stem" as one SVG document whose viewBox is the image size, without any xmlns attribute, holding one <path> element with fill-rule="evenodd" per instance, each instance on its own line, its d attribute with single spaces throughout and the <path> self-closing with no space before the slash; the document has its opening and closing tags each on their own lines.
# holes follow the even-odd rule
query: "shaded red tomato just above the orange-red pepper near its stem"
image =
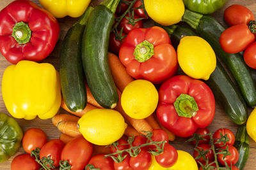
<svg viewBox="0 0 256 170">
<path fill-rule="evenodd" d="M 130 24 L 129 20 L 127 20 L 127 18 L 125 18 L 125 17 L 130 18 L 130 20 L 133 24 Z M 143 27 L 142 20 L 138 20 L 137 22 L 135 21 L 136 19 L 140 18 L 137 15 L 134 15 L 134 18 L 132 18 L 131 15 L 127 14 L 127 15 L 125 15 L 125 17 L 120 22 L 120 29 L 123 28 L 123 31 L 125 34 L 128 34 L 130 31 L 132 31 L 132 29 Z"/>
</svg>

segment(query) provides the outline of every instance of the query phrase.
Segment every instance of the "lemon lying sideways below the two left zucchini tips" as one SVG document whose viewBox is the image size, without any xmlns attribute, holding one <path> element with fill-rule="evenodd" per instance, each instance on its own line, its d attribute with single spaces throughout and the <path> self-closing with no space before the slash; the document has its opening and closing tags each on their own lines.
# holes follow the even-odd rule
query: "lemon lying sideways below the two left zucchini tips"
<svg viewBox="0 0 256 170">
<path fill-rule="evenodd" d="M 78 120 L 84 138 L 95 145 L 110 145 L 120 139 L 127 127 L 124 117 L 115 110 L 90 110 Z"/>
</svg>

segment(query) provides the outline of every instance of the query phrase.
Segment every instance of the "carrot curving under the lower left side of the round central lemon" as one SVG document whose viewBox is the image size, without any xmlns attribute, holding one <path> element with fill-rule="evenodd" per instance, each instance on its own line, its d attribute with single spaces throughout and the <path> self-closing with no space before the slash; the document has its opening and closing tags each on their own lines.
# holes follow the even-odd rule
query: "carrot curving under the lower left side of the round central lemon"
<svg viewBox="0 0 256 170">
<path fill-rule="evenodd" d="M 123 115 L 125 120 L 127 120 L 127 122 L 131 124 L 132 127 L 134 127 L 134 129 L 136 129 L 136 131 L 138 131 L 140 134 L 145 134 L 145 132 L 142 132 L 142 131 L 152 131 L 153 130 L 152 127 L 150 126 L 150 124 L 148 124 L 148 122 L 145 119 L 131 118 L 125 113 L 125 111 L 122 108 L 121 100 L 120 100 L 121 92 L 118 89 L 117 89 L 117 92 L 118 92 L 119 101 L 116 104 L 116 107 L 114 109 L 116 111 L 119 111 Z"/>
</svg>

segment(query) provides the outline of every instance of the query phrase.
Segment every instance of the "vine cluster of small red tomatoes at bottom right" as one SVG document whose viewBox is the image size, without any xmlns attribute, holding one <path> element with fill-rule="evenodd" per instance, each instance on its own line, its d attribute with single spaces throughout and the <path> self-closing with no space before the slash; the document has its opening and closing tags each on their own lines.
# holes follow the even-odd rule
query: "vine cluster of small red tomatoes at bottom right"
<svg viewBox="0 0 256 170">
<path fill-rule="evenodd" d="M 239 159 L 239 153 L 233 146 L 235 143 L 235 136 L 229 129 L 218 129 L 213 136 L 207 128 L 197 129 L 196 132 L 189 137 L 189 141 L 196 146 L 193 157 L 196 162 L 202 166 L 214 169 L 216 167 L 215 156 L 218 158 L 218 163 L 222 166 L 228 166 L 232 169 L 238 169 L 234 164 Z M 209 143 L 211 143 L 209 145 Z M 227 164 L 227 165 L 226 165 Z M 204 167 L 204 168 L 205 168 Z"/>
</svg>

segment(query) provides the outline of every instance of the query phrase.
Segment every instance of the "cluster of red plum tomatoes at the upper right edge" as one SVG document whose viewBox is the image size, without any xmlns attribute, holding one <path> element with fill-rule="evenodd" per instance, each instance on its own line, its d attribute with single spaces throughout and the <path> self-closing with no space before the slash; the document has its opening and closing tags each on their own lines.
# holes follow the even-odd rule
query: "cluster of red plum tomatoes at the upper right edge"
<svg viewBox="0 0 256 170">
<path fill-rule="evenodd" d="M 239 53 L 244 50 L 244 61 L 256 69 L 256 22 L 252 11 L 245 6 L 233 4 L 224 12 L 229 27 L 220 36 L 220 45 L 227 53 Z"/>
</svg>

